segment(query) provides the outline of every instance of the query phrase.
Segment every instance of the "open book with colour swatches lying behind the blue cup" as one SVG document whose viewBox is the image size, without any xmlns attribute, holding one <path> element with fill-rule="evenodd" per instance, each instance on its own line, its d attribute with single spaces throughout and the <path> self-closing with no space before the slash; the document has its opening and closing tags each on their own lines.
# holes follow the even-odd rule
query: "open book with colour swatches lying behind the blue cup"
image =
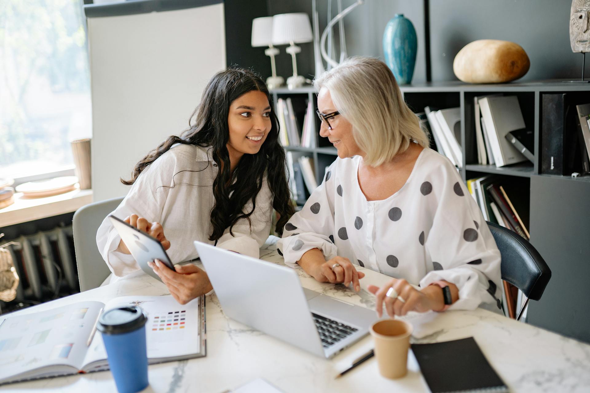
<svg viewBox="0 0 590 393">
<path fill-rule="evenodd" d="M 0 384 L 109 369 L 101 333 L 94 326 L 103 310 L 129 305 L 148 315 L 149 364 L 206 355 L 205 296 L 186 305 L 170 295 L 80 302 L 0 316 Z"/>
</svg>

